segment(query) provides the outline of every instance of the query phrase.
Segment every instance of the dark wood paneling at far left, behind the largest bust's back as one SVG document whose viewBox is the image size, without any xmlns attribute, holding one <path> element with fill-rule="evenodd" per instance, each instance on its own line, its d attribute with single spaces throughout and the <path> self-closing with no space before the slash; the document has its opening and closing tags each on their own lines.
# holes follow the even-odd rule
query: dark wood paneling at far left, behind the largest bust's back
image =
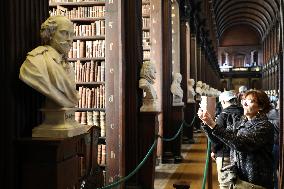
<svg viewBox="0 0 284 189">
<path fill-rule="evenodd" d="M 40 24 L 48 16 L 48 0 L 1 2 L 1 188 L 18 188 L 15 139 L 30 136 L 41 120 L 41 95 L 18 78 L 26 53 L 40 44 Z M 1 33 L 2 33 L 1 32 Z M 1 166 L 2 167 L 2 166 Z"/>
</svg>

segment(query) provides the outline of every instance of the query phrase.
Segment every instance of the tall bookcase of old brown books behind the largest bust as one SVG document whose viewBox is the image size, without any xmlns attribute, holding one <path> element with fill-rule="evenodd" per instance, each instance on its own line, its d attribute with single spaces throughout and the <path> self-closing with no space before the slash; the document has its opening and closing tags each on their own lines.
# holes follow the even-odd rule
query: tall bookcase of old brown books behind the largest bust
<svg viewBox="0 0 284 189">
<path fill-rule="evenodd" d="M 104 0 L 50 0 L 51 15 L 64 15 L 74 23 L 75 37 L 68 61 L 75 71 L 80 100 L 75 120 L 100 128 L 98 164 L 106 184 L 106 20 Z"/>
</svg>

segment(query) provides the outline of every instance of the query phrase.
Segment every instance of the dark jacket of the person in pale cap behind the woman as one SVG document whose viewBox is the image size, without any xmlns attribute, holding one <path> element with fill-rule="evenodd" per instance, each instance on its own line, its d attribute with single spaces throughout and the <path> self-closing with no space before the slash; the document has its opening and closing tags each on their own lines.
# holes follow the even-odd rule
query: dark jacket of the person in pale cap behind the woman
<svg viewBox="0 0 284 189">
<path fill-rule="evenodd" d="M 238 107 L 237 105 L 231 105 L 219 114 L 216 123 L 220 127 L 226 128 L 228 125 L 232 125 L 233 122 L 239 121 L 243 115 L 243 108 Z M 230 156 L 230 148 L 226 146 L 222 141 L 220 141 L 217 137 L 212 135 L 212 130 L 208 127 L 204 127 L 205 132 L 211 140 L 211 150 L 215 153 L 216 157 L 222 157 L 224 152 L 224 157 Z M 207 131 L 206 131 L 207 130 Z"/>
</svg>

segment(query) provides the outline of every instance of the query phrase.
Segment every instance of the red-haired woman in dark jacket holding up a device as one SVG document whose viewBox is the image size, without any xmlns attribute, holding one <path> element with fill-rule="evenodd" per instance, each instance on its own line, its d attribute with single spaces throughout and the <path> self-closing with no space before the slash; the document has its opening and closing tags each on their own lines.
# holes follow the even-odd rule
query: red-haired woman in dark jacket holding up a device
<svg viewBox="0 0 284 189">
<path fill-rule="evenodd" d="M 230 161 L 239 179 L 254 184 L 254 188 L 273 189 L 274 131 L 266 116 L 269 98 L 263 91 L 250 90 L 243 95 L 242 106 L 242 119 L 227 128 L 216 124 L 207 111 L 199 109 L 198 116 L 230 147 Z"/>
</svg>

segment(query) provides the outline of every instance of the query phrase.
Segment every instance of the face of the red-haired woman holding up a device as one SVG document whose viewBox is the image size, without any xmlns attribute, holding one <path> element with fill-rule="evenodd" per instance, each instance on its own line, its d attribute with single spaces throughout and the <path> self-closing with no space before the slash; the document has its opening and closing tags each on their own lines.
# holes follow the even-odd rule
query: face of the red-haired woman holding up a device
<svg viewBox="0 0 284 189">
<path fill-rule="evenodd" d="M 258 102 L 256 101 L 256 99 L 253 98 L 252 95 L 248 95 L 246 96 L 243 100 L 242 100 L 242 105 L 244 108 L 244 115 L 248 118 L 251 119 L 254 116 L 256 116 L 256 114 L 259 111 L 259 106 L 258 106 Z"/>
</svg>

